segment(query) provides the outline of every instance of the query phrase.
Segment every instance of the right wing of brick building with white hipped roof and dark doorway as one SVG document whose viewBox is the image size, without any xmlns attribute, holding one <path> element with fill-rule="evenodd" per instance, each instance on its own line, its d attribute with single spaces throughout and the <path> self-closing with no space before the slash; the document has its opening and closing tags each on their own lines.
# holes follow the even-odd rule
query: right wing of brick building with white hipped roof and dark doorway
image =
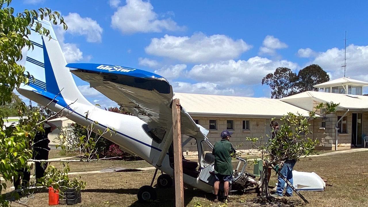
<svg viewBox="0 0 368 207">
<path fill-rule="evenodd" d="M 314 110 L 319 103 L 338 103 L 335 113 L 321 115 L 313 121 L 313 137 L 319 140 L 319 150 L 350 149 L 363 147 L 368 135 L 368 96 L 308 91 L 281 99 L 287 103 Z M 336 133 L 337 132 L 337 133 Z"/>
</svg>

